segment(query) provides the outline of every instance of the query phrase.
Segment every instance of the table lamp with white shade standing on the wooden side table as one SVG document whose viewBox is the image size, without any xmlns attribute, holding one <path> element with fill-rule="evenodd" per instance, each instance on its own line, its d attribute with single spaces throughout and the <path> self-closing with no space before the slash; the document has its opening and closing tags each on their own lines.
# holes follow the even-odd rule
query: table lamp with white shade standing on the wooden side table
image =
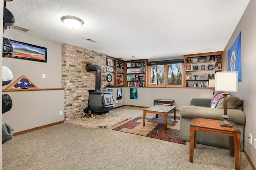
<svg viewBox="0 0 256 170">
<path fill-rule="evenodd" d="M 222 95 L 224 96 L 223 101 L 223 110 L 224 115 L 222 118 L 224 121 L 220 122 L 220 126 L 223 127 L 232 127 L 230 123 L 228 123 L 227 116 L 228 111 L 228 103 L 227 103 L 227 92 L 237 92 L 237 82 L 238 82 L 238 71 L 218 71 L 215 74 L 215 91 L 223 91 Z"/>
</svg>

